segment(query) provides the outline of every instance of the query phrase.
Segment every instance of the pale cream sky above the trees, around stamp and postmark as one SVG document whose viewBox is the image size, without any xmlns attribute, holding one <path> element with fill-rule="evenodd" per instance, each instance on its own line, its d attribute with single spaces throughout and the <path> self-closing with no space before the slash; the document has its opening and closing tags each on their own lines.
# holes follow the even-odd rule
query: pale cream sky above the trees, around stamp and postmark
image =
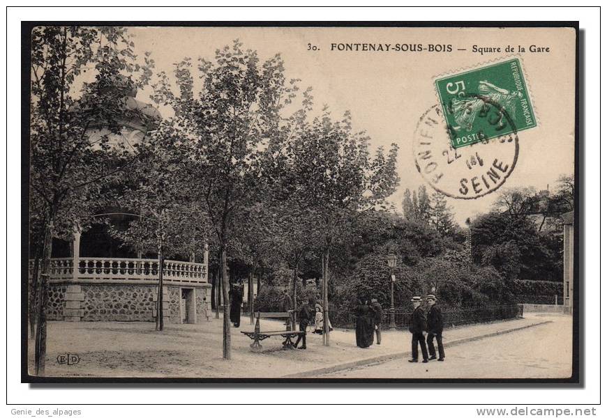
<svg viewBox="0 0 607 418">
<path fill-rule="evenodd" d="M 215 50 L 243 42 L 260 59 L 280 53 L 288 78 L 301 79 L 300 86 L 313 87 L 315 105 L 327 104 L 337 118 L 352 114 L 354 130 L 365 130 L 370 146 L 391 143 L 400 147 L 400 185 L 389 198 L 398 212 L 406 188 L 426 185 L 415 168 L 414 137 L 424 112 L 438 103 L 433 79 L 463 68 L 478 68 L 489 61 L 511 56 L 518 45 L 525 82 L 532 96 L 538 126 L 518 133 L 516 167 L 495 192 L 479 199 L 447 197 L 456 222 L 486 212 L 498 192 L 507 187 L 555 187 L 561 174 L 574 172 L 575 32 L 560 28 L 180 28 L 133 27 L 135 52 L 151 52 L 156 72 L 172 72 L 173 64 L 188 56 L 213 59 Z M 356 44 L 359 51 L 356 51 Z M 375 51 L 363 51 L 362 44 Z M 378 51 L 389 44 L 391 50 Z M 340 48 L 352 50 L 340 51 Z M 398 47 L 396 47 L 398 45 Z M 416 50 L 418 45 L 426 50 Z M 429 52 L 440 45 L 451 52 Z M 530 52 L 530 45 L 548 47 L 549 52 Z M 474 48 L 476 46 L 476 48 Z M 481 48 L 493 52 L 474 52 Z M 500 51 L 497 52 L 497 48 Z M 399 50 L 395 50 L 398 48 Z M 404 51 L 403 49 L 408 49 Z M 436 49 L 436 48 L 435 48 Z M 149 91 L 137 98 L 150 102 Z M 161 109 L 162 110 L 162 109 Z M 467 150 L 464 150 L 467 152 Z"/>
</svg>

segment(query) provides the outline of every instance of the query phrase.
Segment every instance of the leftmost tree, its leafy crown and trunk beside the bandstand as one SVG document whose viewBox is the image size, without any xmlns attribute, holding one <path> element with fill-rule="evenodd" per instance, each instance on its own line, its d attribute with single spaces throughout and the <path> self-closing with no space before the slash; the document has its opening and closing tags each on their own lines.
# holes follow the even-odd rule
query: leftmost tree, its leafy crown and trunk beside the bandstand
<svg viewBox="0 0 607 418">
<path fill-rule="evenodd" d="M 130 161 L 128 152 L 112 146 L 109 138 L 119 133 L 120 121 L 140 113 L 128 109 L 123 92 L 114 88 L 120 72 L 139 74 L 138 85 L 147 83 L 151 73 L 153 61 L 146 56 L 144 63 L 137 63 L 133 46 L 126 29 L 112 26 L 38 26 L 31 33 L 29 180 L 45 211 L 36 328 L 38 375 L 45 371 L 52 238 L 72 235 L 87 215 L 82 203 L 85 208 L 95 206 L 107 179 Z M 94 82 L 87 84 L 90 74 Z M 108 134 L 91 141 L 90 130 L 102 126 Z"/>
</svg>

